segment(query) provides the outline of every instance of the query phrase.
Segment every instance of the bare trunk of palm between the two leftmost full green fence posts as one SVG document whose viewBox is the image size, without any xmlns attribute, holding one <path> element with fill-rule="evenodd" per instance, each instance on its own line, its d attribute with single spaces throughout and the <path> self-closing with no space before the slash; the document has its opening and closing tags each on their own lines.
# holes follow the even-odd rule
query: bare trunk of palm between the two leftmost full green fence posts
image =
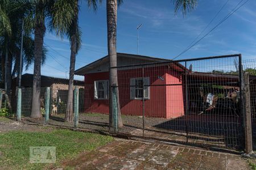
<svg viewBox="0 0 256 170">
<path fill-rule="evenodd" d="M 40 109 L 40 91 L 41 91 L 41 63 L 42 63 L 42 49 L 43 38 L 46 32 L 44 19 L 36 20 L 35 25 L 35 49 L 34 49 L 34 77 L 33 77 L 33 94 L 32 94 L 32 110 L 31 117 L 42 117 Z"/>
</svg>

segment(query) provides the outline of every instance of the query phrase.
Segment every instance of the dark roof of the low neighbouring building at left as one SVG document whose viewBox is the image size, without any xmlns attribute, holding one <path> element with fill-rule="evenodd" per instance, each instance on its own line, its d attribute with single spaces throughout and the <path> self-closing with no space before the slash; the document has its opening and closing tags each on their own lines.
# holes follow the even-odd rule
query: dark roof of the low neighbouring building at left
<svg viewBox="0 0 256 170">
<path fill-rule="evenodd" d="M 14 78 L 14 81 L 16 82 L 16 78 Z M 18 83 L 18 82 L 16 82 Z M 41 86 L 42 87 L 50 87 L 52 84 L 68 84 L 69 79 L 64 79 L 64 78 L 56 78 L 52 76 L 46 76 L 46 75 L 41 75 Z M 23 74 L 22 75 L 22 82 L 21 85 L 23 87 L 32 87 L 33 85 L 33 74 Z M 82 86 L 84 85 L 84 81 L 81 80 L 74 80 L 74 85 L 75 86 Z"/>
</svg>

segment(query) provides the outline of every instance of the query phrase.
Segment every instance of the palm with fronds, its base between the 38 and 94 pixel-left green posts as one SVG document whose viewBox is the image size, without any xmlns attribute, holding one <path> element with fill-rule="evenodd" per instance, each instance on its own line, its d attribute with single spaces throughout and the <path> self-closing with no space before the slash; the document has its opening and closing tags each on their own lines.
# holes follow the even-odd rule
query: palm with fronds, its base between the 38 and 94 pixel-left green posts
<svg viewBox="0 0 256 170">
<path fill-rule="evenodd" d="M 42 117 L 40 111 L 40 90 L 41 90 L 41 65 L 42 65 L 42 52 L 43 52 L 43 41 L 44 33 L 46 32 L 45 20 L 49 19 L 49 23 L 53 23 L 52 20 L 57 20 L 59 25 L 51 25 L 56 32 L 65 30 L 71 22 L 73 13 L 70 7 L 64 6 L 69 5 L 68 0 L 37 0 L 33 1 L 32 5 L 35 8 L 35 45 L 34 45 L 34 78 L 33 78 L 33 92 L 32 92 L 32 110 L 31 117 L 40 118 Z M 67 8 L 66 8 L 67 7 Z M 53 14 L 55 15 L 53 18 Z M 56 27 L 55 27 L 56 26 Z"/>
</svg>

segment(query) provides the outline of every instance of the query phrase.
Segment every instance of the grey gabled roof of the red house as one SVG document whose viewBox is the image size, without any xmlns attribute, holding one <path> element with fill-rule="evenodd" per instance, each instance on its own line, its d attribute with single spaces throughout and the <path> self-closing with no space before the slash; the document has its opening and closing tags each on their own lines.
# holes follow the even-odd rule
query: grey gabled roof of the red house
<svg viewBox="0 0 256 170">
<path fill-rule="evenodd" d="M 149 57 L 149 56 L 141 56 L 137 54 L 126 54 L 126 53 L 117 53 L 117 66 L 125 66 L 127 63 L 118 62 L 118 58 L 129 58 L 133 60 L 133 63 L 130 63 L 130 65 L 133 64 L 140 64 L 140 63 L 155 63 L 155 62 L 168 62 L 172 61 L 171 59 L 164 59 L 164 58 L 157 58 L 157 57 Z M 135 60 L 134 60 L 135 59 Z M 137 59 L 137 62 L 136 62 Z M 98 66 L 102 65 L 103 63 L 109 62 L 109 57 L 105 56 L 102 57 L 92 63 L 89 63 L 88 65 L 81 67 L 80 69 L 77 69 L 75 71 L 76 75 L 84 75 L 89 70 L 96 69 Z M 179 64 L 176 64 L 179 65 Z M 108 66 L 109 67 L 109 66 Z M 183 66 L 179 66 L 180 68 Z M 183 68 L 184 69 L 184 68 Z"/>
</svg>

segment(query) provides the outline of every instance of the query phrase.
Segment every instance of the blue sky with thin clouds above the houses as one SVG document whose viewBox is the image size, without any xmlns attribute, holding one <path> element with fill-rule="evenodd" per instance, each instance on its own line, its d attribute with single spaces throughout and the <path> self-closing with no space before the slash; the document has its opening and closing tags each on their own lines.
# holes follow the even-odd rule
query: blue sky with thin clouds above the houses
<svg viewBox="0 0 256 170">
<path fill-rule="evenodd" d="M 217 18 L 203 33 L 207 33 L 241 0 L 229 0 Z M 174 15 L 172 1 L 124 0 L 118 8 L 117 52 L 137 53 L 137 25 L 139 54 L 172 59 L 182 52 L 216 15 L 226 0 L 199 1 L 195 11 L 183 18 Z M 88 10 L 82 2 L 79 15 L 82 30 L 82 48 L 77 55 L 76 69 L 106 56 L 106 5 L 98 11 Z M 250 0 L 207 37 L 177 59 L 242 53 L 243 59 L 256 58 L 256 2 Z M 48 48 L 42 75 L 68 77 L 70 47 L 67 39 L 61 40 L 55 32 L 47 32 L 44 42 Z M 55 58 L 55 59 L 53 59 Z M 33 66 L 26 71 L 33 72 Z M 84 79 L 76 76 L 76 79 Z"/>
</svg>

